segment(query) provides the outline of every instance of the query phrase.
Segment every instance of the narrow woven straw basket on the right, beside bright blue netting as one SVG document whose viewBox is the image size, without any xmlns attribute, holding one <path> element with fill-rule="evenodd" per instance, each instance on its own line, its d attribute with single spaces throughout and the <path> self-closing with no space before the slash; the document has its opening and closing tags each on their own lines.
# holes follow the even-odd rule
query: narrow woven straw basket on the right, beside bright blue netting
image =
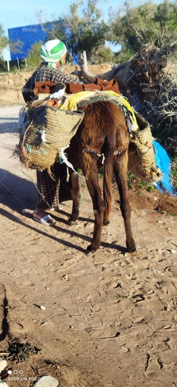
<svg viewBox="0 0 177 387">
<path fill-rule="evenodd" d="M 141 130 L 129 133 L 128 170 L 143 182 L 157 182 L 162 178 L 162 173 L 155 164 L 150 125 L 138 113 L 134 113 Z"/>
</svg>

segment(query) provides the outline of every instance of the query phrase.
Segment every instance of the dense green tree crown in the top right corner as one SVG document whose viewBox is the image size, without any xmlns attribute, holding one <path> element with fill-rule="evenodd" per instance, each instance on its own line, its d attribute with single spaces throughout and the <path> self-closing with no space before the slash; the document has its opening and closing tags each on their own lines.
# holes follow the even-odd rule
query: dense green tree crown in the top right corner
<svg viewBox="0 0 177 387">
<path fill-rule="evenodd" d="M 148 2 L 138 7 L 125 3 L 125 14 L 110 17 L 109 38 L 136 53 L 143 45 L 169 44 L 177 37 L 177 1 L 156 5 Z"/>
</svg>

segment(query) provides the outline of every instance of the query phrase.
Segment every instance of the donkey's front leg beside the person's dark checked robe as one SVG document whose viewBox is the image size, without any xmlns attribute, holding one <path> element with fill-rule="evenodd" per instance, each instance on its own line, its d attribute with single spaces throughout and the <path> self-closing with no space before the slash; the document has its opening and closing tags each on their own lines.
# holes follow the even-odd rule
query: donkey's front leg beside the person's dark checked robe
<svg viewBox="0 0 177 387">
<path fill-rule="evenodd" d="M 71 176 L 71 194 L 72 194 L 72 214 L 69 218 L 69 225 L 79 219 L 79 178 L 74 171 L 70 172 Z"/>
</svg>

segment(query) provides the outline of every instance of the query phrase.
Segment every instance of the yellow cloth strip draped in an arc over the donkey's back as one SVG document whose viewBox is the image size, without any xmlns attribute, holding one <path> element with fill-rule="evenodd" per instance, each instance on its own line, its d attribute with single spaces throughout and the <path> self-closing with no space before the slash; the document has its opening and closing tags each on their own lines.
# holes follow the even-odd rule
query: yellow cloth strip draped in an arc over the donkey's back
<svg viewBox="0 0 177 387">
<path fill-rule="evenodd" d="M 134 127 L 134 130 L 139 130 L 138 128 L 138 124 L 137 124 L 137 120 L 136 120 L 136 117 L 135 117 L 135 114 L 134 114 L 134 111 L 133 109 L 131 108 L 130 106 L 130 103 L 128 103 L 128 101 L 126 101 L 126 99 L 122 96 L 120 96 L 119 94 L 115 93 L 114 91 L 111 91 L 111 90 L 108 90 L 108 91 L 101 91 L 99 92 L 99 94 L 106 94 L 106 93 L 109 93 L 109 94 L 112 94 L 113 96 L 115 97 L 118 97 L 121 99 L 121 101 L 123 102 L 123 104 L 125 105 L 125 107 L 131 111 L 131 114 L 132 114 L 132 118 L 133 118 L 133 122 L 135 124 L 135 127 Z M 66 97 L 66 100 L 61 104 L 61 106 L 59 106 L 61 109 L 65 109 L 65 110 L 77 110 L 78 106 L 77 106 L 77 103 L 79 101 L 81 101 L 82 99 L 87 99 L 88 96 L 91 96 L 93 94 L 93 96 L 96 95 L 96 92 L 95 91 L 80 91 L 76 94 L 72 94 L 70 97 Z"/>
</svg>

